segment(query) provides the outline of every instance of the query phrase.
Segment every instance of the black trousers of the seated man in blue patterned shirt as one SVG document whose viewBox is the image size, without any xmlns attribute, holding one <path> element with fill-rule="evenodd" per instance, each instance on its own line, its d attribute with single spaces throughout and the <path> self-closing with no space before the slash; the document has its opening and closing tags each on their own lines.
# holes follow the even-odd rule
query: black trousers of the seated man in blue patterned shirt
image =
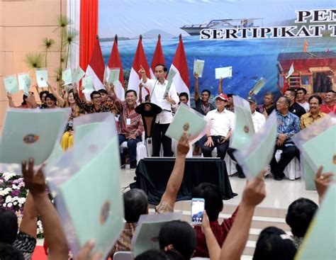
<svg viewBox="0 0 336 260">
<path fill-rule="evenodd" d="M 275 154 L 276 150 L 282 150 L 281 159 L 279 160 L 279 162 L 276 162 L 275 157 L 274 156 L 272 157 L 272 159 L 271 159 L 271 173 L 275 176 L 282 177 L 282 176 L 284 176 L 284 169 L 291 162 L 291 160 L 294 157 L 300 159 L 300 152 L 295 145 L 291 145 L 291 146 L 285 146 L 285 145 L 278 146 L 278 145 L 276 145 L 275 149 L 274 149 L 274 154 Z"/>
</svg>

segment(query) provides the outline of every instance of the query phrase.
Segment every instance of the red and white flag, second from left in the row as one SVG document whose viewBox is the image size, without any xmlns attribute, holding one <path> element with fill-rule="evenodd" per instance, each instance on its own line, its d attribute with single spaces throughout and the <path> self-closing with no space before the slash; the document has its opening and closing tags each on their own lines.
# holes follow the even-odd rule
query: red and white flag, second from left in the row
<svg viewBox="0 0 336 260">
<path fill-rule="evenodd" d="M 108 60 L 107 64 L 107 73 L 110 73 L 111 69 L 119 68 L 120 74 L 119 74 L 119 81 L 114 86 L 114 91 L 116 91 L 116 95 L 119 99 L 124 100 L 125 99 L 125 84 L 123 81 L 123 65 L 121 64 L 121 57 L 119 55 L 118 51 L 118 36 L 116 35 L 114 37 L 114 43 L 111 50 L 110 60 Z"/>
</svg>

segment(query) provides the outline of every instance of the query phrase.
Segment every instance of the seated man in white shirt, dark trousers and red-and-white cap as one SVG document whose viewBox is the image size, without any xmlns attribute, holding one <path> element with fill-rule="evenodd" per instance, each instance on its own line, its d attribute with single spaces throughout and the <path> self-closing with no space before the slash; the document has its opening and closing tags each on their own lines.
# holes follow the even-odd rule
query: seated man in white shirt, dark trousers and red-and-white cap
<svg viewBox="0 0 336 260">
<path fill-rule="evenodd" d="M 217 109 L 209 111 L 206 118 L 209 118 L 213 125 L 206 133 L 207 140 L 202 146 L 203 157 L 211 157 L 211 152 L 217 147 L 217 157 L 224 159 L 229 147 L 229 139 L 233 129 L 235 114 L 225 109 L 228 104 L 228 96 L 219 94 L 215 96 Z"/>
</svg>

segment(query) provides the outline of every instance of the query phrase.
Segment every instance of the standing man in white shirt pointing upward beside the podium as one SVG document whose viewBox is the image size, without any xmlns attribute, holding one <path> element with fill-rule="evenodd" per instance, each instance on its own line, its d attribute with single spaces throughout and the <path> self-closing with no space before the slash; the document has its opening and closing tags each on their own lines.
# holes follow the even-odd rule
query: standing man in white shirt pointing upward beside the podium
<svg viewBox="0 0 336 260">
<path fill-rule="evenodd" d="M 145 69 L 139 70 L 139 74 L 142 76 L 142 83 L 150 91 L 150 102 L 155 103 L 162 108 L 162 112 L 157 115 L 155 120 L 154 130 L 152 133 L 152 157 L 159 157 L 159 150 L 161 143 L 163 147 L 163 156 L 172 156 L 172 139 L 167 137 L 166 131 L 169 124 L 172 123 L 172 105 L 179 102 L 179 96 L 175 89 L 174 83 L 170 86 L 169 92 L 164 96 L 168 81 L 165 79 L 167 75 L 167 67 L 164 64 L 157 64 L 155 66 L 155 79 L 147 79 Z"/>
</svg>

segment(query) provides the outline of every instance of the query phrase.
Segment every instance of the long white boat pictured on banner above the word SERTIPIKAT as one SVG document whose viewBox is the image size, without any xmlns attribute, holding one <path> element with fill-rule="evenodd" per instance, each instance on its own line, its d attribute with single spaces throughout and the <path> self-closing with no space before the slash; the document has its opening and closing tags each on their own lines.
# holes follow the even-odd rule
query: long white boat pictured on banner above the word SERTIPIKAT
<svg viewBox="0 0 336 260">
<path fill-rule="evenodd" d="M 200 35 L 203 29 L 252 28 L 263 26 L 264 18 L 218 19 L 201 24 L 192 24 L 180 27 L 189 35 Z"/>
</svg>

